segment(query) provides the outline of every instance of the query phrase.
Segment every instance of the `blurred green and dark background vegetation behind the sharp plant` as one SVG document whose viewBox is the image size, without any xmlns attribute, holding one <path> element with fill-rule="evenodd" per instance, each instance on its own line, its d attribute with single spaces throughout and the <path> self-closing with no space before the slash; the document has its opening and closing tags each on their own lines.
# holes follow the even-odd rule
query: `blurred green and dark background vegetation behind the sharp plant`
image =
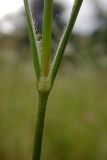
<svg viewBox="0 0 107 160">
<path fill-rule="evenodd" d="M 100 25 L 88 35 L 72 34 L 49 97 L 43 160 L 107 160 L 107 12 L 93 5 Z M 31 6 L 41 45 L 43 1 Z M 63 10 L 55 3 L 53 55 L 66 25 Z M 0 32 L 0 160 L 32 156 L 38 97 L 23 10 L 18 16 L 20 22 L 15 14 L 6 17 L 14 31 Z"/>
</svg>

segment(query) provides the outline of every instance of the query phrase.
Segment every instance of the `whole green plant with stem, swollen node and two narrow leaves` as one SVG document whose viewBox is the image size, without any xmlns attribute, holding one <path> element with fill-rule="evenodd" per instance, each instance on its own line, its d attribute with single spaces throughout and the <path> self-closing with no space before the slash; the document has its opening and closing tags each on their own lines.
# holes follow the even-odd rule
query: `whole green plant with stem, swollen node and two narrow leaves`
<svg viewBox="0 0 107 160">
<path fill-rule="evenodd" d="M 37 78 L 38 91 L 38 112 L 36 120 L 36 130 L 34 138 L 34 150 L 32 160 L 40 160 L 42 137 L 44 128 L 44 119 L 49 93 L 52 89 L 62 56 L 64 54 L 70 34 L 77 19 L 83 0 L 74 0 L 70 19 L 66 29 L 59 42 L 57 51 L 53 60 L 51 60 L 51 35 L 52 35 L 52 18 L 53 18 L 53 0 L 44 0 L 43 28 L 42 28 L 42 48 L 38 47 L 37 35 L 34 27 L 31 9 L 28 0 L 23 0 L 27 23 L 30 45 L 32 48 L 35 74 Z M 42 51 L 42 53 L 41 53 Z"/>
</svg>

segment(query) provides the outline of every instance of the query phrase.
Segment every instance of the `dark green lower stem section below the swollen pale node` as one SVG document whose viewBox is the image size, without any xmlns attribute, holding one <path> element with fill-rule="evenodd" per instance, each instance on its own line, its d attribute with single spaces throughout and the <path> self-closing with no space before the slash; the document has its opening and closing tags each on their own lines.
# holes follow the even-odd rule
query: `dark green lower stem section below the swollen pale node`
<svg viewBox="0 0 107 160">
<path fill-rule="evenodd" d="M 36 130 L 34 138 L 34 151 L 32 160 L 40 160 L 41 158 L 44 119 L 45 119 L 46 105 L 49 92 L 39 92 L 38 95 L 39 95 L 39 103 L 38 103 Z"/>
</svg>

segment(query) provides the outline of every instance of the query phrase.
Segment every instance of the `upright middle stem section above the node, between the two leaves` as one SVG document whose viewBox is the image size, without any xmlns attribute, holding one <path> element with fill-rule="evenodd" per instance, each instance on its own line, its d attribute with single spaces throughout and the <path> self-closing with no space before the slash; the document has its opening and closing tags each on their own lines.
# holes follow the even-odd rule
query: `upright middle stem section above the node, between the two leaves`
<svg viewBox="0 0 107 160">
<path fill-rule="evenodd" d="M 53 0 L 44 0 L 43 15 L 41 69 L 42 75 L 47 77 L 50 70 Z"/>
</svg>

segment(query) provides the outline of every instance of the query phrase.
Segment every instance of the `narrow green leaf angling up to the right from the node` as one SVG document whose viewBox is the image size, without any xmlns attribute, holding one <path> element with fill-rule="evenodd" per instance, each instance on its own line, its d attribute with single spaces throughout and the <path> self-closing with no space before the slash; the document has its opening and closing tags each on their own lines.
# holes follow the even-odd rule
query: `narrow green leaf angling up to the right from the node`
<svg viewBox="0 0 107 160">
<path fill-rule="evenodd" d="M 74 5 L 73 5 L 73 9 L 72 9 L 72 12 L 71 12 L 69 23 L 68 23 L 68 25 L 65 29 L 65 32 L 64 32 L 64 34 L 61 38 L 61 41 L 59 43 L 59 46 L 58 46 L 58 49 L 57 49 L 57 52 L 56 52 L 56 55 L 55 55 L 55 58 L 54 58 L 54 61 L 53 61 L 53 64 L 52 64 L 52 68 L 51 68 L 51 82 L 52 82 L 52 84 L 53 84 L 54 79 L 56 77 L 56 74 L 57 74 L 62 56 L 64 54 L 67 42 L 68 42 L 69 37 L 70 37 L 70 34 L 73 30 L 73 27 L 74 27 L 75 21 L 77 19 L 80 7 L 82 5 L 82 2 L 83 2 L 83 0 L 75 0 Z"/>
</svg>

